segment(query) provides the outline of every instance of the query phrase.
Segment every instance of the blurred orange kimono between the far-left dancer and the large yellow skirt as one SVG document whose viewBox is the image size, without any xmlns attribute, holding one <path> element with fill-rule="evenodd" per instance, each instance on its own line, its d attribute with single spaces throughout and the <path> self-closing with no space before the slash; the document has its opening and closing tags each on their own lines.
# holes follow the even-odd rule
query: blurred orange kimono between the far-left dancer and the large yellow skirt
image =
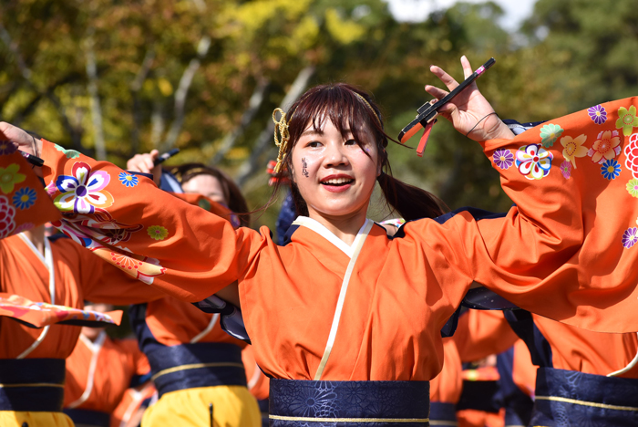
<svg viewBox="0 0 638 427">
<path fill-rule="evenodd" d="M 113 340 L 104 331 L 94 342 L 80 335 L 67 358 L 64 411 L 77 424 L 108 427 L 131 380 L 150 377 L 149 370 L 137 340 Z"/>
</svg>

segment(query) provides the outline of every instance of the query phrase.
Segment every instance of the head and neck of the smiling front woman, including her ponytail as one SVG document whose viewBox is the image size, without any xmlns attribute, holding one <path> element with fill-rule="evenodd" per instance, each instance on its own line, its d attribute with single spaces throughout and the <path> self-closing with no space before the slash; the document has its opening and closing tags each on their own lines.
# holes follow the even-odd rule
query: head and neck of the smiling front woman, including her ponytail
<svg viewBox="0 0 638 427">
<path fill-rule="evenodd" d="M 297 212 L 348 245 L 365 222 L 377 181 L 387 203 L 407 220 L 443 213 L 436 196 L 391 176 L 389 137 L 380 109 L 365 91 L 345 83 L 318 86 L 282 116 L 278 123 L 284 125 L 286 143 L 279 158 L 283 173 L 292 177 Z"/>
</svg>

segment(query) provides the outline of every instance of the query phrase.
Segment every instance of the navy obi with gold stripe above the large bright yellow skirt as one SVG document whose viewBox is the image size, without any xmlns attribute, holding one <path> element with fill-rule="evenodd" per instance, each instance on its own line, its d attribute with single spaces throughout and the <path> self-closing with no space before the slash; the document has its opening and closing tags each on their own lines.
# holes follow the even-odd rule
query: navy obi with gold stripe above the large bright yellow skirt
<svg viewBox="0 0 638 427">
<path fill-rule="evenodd" d="M 242 349 L 234 344 L 202 342 L 154 349 L 147 354 L 160 398 L 164 393 L 198 387 L 246 387 Z"/>
</svg>

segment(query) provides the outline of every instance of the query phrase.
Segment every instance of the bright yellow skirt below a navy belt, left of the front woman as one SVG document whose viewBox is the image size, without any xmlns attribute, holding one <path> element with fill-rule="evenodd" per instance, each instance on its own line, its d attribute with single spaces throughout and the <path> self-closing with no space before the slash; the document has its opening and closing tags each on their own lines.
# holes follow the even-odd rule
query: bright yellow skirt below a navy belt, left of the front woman
<svg viewBox="0 0 638 427">
<path fill-rule="evenodd" d="M 212 403 L 214 427 L 261 427 L 257 401 L 242 386 L 200 387 L 170 391 L 149 406 L 142 427 L 208 427 Z M 1 424 L 4 427 L 4 424 Z"/>
</svg>

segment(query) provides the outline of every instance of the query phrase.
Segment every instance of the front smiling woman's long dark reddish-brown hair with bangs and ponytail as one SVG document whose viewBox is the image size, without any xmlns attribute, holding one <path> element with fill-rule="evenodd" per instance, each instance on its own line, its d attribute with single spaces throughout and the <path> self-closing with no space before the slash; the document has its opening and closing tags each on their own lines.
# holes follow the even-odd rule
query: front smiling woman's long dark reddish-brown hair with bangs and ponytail
<svg viewBox="0 0 638 427">
<path fill-rule="evenodd" d="M 325 120 L 330 120 L 344 138 L 347 138 L 345 131 L 350 130 L 362 150 L 361 141 L 365 141 L 365 130 L 370 130 L 375 138 L 382 168 L 382 173 L 377 178 L 377 182 L 384 193 L 386 203 L 406 220 L 436 218 L 443 213 L 441 206 L 444 206 L 445 203 L 442 203 L 437 196 L 406 182 L 401 182 L 392 176 L 386 147 L 388 141 L 395 140 L 386 134 L 381 110 L 372 97 L 364 90 L 346 83 L 316 86 L 308 89 L 293 104 L 288 110 L 287 116 L 289 118 L 288 130 L 290 132 L 284 159 L 287 171 L 293 170 L 291 161 L 294 145 L 311 123 L 314 130 L 320 131 L 324 126 Z M 297 212 L 307 215 L 308 207 L 296 184 L 293 180 L 291 181 L 291 190 Z M 279 186 L 279 182 L 274 185 L 273 197 L 277 193 Z"/>
</svg>

